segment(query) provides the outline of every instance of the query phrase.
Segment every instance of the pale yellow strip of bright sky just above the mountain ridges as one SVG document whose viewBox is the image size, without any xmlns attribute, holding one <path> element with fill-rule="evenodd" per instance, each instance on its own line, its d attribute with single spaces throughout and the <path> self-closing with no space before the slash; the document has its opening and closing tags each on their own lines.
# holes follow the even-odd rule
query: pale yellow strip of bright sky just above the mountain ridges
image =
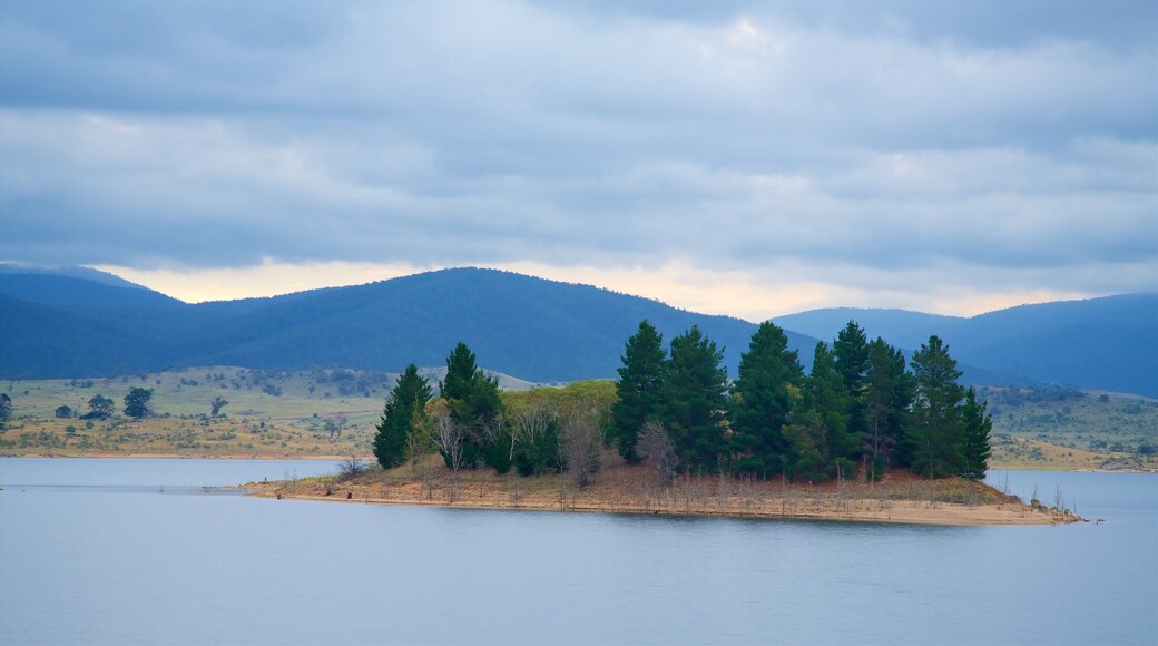
<svg viewBox="0 0 1158 646">
<path fill-rule="evenodd" d="M 486 265 L 563 282 L 580 282 L 662 301 L 702 314 L 723 314 L 760 322 L 774 316 L 824 307 L 896 307 L 931 314 L 973 316 L 1024 303 L 1086 298 L 1086 294 L 1043 289 L 988 293 L 959 288 L 936 293 L 919 289 L 867 289 L 824 281 L 761 280 L 745 271 L 714 271 L 682 263 L 655 267 L 554 266 L 542 263 Z M 351 262 L 286 263 L 266 259 L 261 265 L 221 269 L 140 270 L 97 265 L 185 302 L 274 296 L 388 280 L 438 266 Z"/>
</svg>

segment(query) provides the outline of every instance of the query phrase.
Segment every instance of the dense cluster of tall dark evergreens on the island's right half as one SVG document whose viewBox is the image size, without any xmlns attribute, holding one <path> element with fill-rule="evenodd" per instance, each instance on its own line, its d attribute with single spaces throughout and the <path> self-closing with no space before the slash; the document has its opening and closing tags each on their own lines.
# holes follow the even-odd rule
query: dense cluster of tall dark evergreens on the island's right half
<svg viewBox="0 0 1158 646">
<path fill-rule="evenodd" d="M 735 381 L 721 359 L 695 326 L 668 352 L 654 326 L 639 324 L 611 406 L 610 435 L 624 460 L 646 458 L 664 475 L 677 467 L 812 482 L 877 479 L 908 467 L 984 477 L 991 421 L 975 391 L 958 384 L 957 361 L 936 336 L 907 366 L 900 350 L 868 342 L 850 322 L 831 345 L 816 345 L 806 375 L 784 330 L 764 323 Z"/>
</svg>

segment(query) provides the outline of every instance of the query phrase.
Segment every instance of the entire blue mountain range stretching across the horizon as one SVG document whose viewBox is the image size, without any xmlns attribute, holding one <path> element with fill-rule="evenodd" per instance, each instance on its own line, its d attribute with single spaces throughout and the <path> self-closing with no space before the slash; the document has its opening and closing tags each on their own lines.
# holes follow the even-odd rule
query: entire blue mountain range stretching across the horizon
<svg viewBox="0 0 1158 646">
<path fill-rule="evenodd" d="M 0 377 L 80 377 L 170 367 L 439 366 L 459 340 L 479 364 L 548 383 L 614 377 L 639 321 L 665 339 L 698 325 L 731 375 L 754 323 L 587 285 L 483 269 L 190 304 L 87 267 L 0 265 Z M 1158 396 L 1158 294 L 1023 306 L 959 318 L 826 309 L 774 320 L 807 366 L 849 320 L 907 351 L 945 338 L 966 381 L 1064 383 Z"/>
</svg>

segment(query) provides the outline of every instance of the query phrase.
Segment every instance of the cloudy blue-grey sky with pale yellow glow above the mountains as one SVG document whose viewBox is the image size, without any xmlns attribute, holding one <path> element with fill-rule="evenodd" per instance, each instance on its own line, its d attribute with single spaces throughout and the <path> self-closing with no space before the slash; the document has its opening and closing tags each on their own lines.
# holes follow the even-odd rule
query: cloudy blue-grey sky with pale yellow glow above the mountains
<svg viewBox="0 0 1158 646">
<path fill-rule="evenodd" d="M 0 260 L 761 321 L 1158 291 L 1158 3 L 0 0 Z"/>
</svg>

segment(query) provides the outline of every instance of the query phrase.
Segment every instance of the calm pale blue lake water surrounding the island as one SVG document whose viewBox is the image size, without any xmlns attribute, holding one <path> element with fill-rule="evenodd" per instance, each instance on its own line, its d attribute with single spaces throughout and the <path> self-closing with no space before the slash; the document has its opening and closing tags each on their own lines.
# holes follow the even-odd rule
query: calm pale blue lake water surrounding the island
<svg viewBox="0 0 1158 646">
<path fill-rule="evenodd" d="M 1158 477 L 937 528 L 205 494 L 317 462 L 0 458 L 0 644 L 1156 644 Z M 63 486 L 66 485 L 66 486 Z"/>
</svg>

